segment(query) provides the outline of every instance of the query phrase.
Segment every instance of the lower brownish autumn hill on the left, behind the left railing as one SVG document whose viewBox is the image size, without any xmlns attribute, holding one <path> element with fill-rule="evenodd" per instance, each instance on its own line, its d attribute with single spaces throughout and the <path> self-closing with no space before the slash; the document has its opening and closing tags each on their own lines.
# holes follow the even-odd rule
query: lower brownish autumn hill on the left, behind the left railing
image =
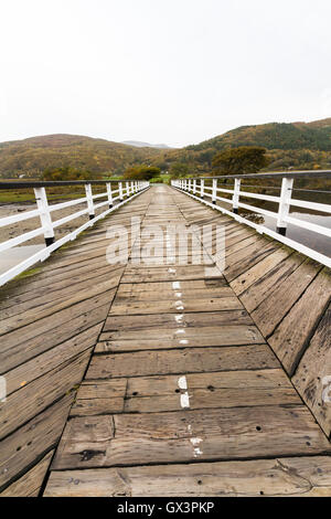
<svg viewBox="0 0 331 519">
<path fill-rule="evenodd" d="M 40 177 L 46 168 L 72 166 L 92 173 L 121 174 L 128 166 L 149 162 L 160 150 L 136 148 L 77 135 L 47 135 L 0 142 L 0 177 Z"/>
</svg>

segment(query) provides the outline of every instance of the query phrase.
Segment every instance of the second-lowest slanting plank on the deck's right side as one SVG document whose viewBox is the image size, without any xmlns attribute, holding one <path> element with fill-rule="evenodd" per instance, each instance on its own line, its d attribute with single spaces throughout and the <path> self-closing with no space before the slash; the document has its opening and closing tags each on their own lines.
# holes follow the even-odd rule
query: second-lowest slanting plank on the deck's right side
<svg viewBox="0 0 331 519">
<path fill-rule="evenodd" d="M 324 268 L 269 337 L 269 345 L 290 375 L 330 299 L 331 275 Z"/>
</svg>

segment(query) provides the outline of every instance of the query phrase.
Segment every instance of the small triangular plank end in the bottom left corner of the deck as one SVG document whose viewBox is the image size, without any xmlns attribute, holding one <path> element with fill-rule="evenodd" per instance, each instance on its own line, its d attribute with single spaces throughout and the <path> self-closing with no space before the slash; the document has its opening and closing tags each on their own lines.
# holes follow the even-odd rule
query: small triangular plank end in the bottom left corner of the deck
<svg viewBox="0 0 331 519">
<path fill-rule="evenodd" d="M 0 497 L 38 497 L 54 451 L 47 453 L 34 467 L 0 492 Z"/>
</svg>

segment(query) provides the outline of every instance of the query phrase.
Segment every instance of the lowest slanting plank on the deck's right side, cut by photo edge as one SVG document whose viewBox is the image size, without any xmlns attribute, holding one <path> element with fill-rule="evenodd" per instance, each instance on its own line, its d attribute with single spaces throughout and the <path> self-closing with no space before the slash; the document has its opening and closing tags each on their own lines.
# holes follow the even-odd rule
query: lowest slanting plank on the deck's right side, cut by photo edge
<svg viewBox="0 0 331 519">
<path fill-rule="evenodd" d="M 292 382 L 328 437 L 331 436 L 331 306 L 320 320 Z"/>
</svg>

